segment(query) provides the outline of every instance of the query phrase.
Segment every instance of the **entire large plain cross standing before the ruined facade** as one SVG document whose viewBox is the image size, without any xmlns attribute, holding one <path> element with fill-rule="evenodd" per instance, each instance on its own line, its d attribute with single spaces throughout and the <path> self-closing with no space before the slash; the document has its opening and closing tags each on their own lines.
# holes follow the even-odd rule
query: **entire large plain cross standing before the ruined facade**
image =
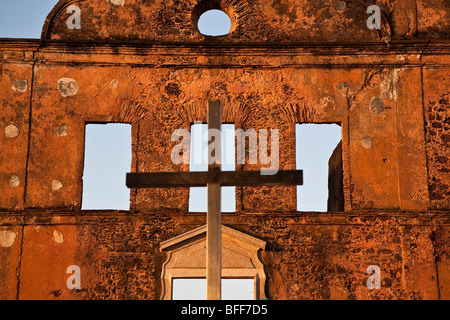
<svg viewBox="0 0 450 320">
<path fill-rule="evenodd" d="M 222 107 L 220 101 L 208 103 L 208 141 L 211 129 L 220 130 Z M 206 172 L 151 172 L 127 173 L 128 188 L 201 187 L 208 190 L 206 227 L 206 283 L 207 299 L 221 299 L 222 275 L 222 217 L 221 186 L 301 185 L 302 170 L 282 170 L 273 175 L 261 175 L 260 171 L 221 171 L 221 142 L 208 145 L 209 165 Z M 213 159 L 211 155 L 214 154 Z"/>
</svg>

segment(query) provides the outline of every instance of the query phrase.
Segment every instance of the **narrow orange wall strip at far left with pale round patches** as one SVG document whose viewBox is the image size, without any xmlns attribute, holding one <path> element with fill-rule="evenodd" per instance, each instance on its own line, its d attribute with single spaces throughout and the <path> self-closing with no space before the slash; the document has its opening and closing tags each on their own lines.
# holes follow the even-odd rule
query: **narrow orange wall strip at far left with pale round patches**
<svg viewBox="0 0 450 320">
<path fill-rule="evenodd" d="M 3 53 L 0 63 L 0 208 L 24 201 L 30 127 L 32 63 L 30 51 Z M 23 61 L 25 58 L 25 61 Z M 14 62 L 18 59 L 20 62 Z M 9 63 L 5 63 L 10 60 Z"/>
</svg>

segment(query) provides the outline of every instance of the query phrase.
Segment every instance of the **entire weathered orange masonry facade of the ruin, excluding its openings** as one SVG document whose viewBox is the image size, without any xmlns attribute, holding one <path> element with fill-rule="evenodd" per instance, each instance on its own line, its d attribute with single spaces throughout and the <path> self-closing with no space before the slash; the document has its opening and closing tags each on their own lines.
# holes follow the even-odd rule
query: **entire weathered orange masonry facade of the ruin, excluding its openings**
<svg viewBox="0 0 450 320">
<path fill-rule="evenodd" d="M 205 214 L 188 212 L 187 188 L 81 211 L 85 125 L 132 124 L 132 172 L 188 171 L 171 134 L 214 98 L 236 128 L 280 129 L 281 169 L 295 169 L 296 123 L 342 126 L 330 212 L 297 212 L 295 187 L 244 187 L 223 215 L 266 241 L 267 297 L 450 299 L 450 2 L 381 1 L 381 30 L 370 4 L 61 0 L 40 40 L 0 39 L 0 298 L 159 299 L 160 243 Z M 211 8 L 230 34 L 198 32 Z M 370 265 L 381 289 L 366 287 Z"/>
</svg>

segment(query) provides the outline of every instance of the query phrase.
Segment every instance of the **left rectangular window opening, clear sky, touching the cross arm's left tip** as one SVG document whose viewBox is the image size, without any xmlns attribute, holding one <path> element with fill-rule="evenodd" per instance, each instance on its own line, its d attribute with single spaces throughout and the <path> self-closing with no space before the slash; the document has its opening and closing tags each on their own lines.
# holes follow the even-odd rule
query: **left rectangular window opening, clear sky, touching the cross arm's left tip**
<svg viewBox="0 0 450 320">
<path fill-rule="evenodd" d="M 131 125 L 86 124 L 82 210 L 129 210 Z"/>
</svg>

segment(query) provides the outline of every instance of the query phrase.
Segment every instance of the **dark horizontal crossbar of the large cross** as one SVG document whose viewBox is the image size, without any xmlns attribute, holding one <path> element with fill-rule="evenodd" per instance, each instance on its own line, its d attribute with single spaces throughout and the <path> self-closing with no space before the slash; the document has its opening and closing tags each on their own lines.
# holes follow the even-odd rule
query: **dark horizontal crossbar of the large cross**
<svg viewBox="0 0 450 320">
<path fill-rule="evenodd" d="M 127 173 L 128 188 L 302 185 L 302 170 L 281 170 L 274 175 L 261 171 L 149 172 Z"/>
</svg>

